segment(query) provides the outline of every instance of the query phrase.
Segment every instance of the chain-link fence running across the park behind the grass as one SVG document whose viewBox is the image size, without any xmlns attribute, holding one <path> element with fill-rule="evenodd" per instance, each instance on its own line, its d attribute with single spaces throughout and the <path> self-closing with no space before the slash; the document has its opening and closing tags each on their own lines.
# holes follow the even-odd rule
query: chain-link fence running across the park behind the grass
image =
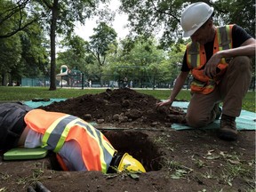
<svg viewBox="0 0 256 192">
<path fill-rule="evenodd" d="M 84 74 L 56 76 L 57 87 L 70 88 L 144 88 L 144 89 L 171 89 L 175 84 L 176 76 L 168 81 L 161 79 L 161 76 L 114 76 L 114 75 L 93 75 Z M 191 76 L 188 77 L 184 89 L 189 89 Z M 22 77 L 20 86 L 49 86 L 49 76 L 30 76 Z M 255 77 L 252 78 L 251 91 L 255 91 Z"/>
</svg>

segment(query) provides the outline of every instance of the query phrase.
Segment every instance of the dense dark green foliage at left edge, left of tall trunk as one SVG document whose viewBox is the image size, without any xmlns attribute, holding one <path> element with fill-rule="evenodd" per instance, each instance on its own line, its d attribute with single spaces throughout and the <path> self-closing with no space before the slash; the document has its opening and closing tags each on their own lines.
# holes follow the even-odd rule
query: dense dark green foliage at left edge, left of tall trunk
<svg viewBox="0 0 256 192">
<path fill-rule="evenodd" d="M 6 84 L 7 80 L 10 81 L 9 83 L 12 80 L 20 82 L 21 76 L 46 75 L 49 63 L 48 52 L 42 46 L 42 40 L 44 40 L 42 28 L 38 28 L 35 24 L 33 23 L 19 34 L 1 39 L 0 50 L 4 55 L 1 57 L 3 59 L 1 71 L 4 77 L 2 84 Z"/>
</svg>

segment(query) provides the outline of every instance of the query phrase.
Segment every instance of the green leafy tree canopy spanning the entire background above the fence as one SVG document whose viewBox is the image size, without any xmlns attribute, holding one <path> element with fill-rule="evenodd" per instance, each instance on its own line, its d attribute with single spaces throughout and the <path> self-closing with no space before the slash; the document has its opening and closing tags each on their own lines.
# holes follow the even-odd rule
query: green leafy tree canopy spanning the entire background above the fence
<svg viewBox="0 0 256 192">
<path fill-rule="evenodd" d="M 5 84 L 6 74 L 17 78 L 50 75 L 50 90 L 55 90 L 56 36 L 64 39 L 61 45 L 65 50 L 58 53 L 58 65 L 68 63 L 69 68 L 77 68 L 87 74 L 106 72 L 116 73 L 118 76 L 132 75 L 138 71 L 143 73 L 141 68 L 147 68 L 147 73 L 160 76 L 159 81 L 172 81 L 170 74 L 174 76 L 177 73 L 187 41 L 182 38 L 180 14 L 188 4 L 197 1 L 120 0 L 119 12 L 128 15 L 131 34 L 119 42 L 116 41 L 116 31 L 110 27 L 113 12 L 108 9 L 108 2 L 109 0 L 0 1 L 2 84 Z M 216 25 L 236 23 L 255 37 L 255 2 L 204 2 L 214 7 Z M 98 20 L 98 26 L 93 29 L 94 34 L 88 42 L 74 35 L 75 23 L 83 25 L 86 20 L 95 16 L 100 21 Z M 120 66 L 129 68 L 116 69 Z"/>
</svg>

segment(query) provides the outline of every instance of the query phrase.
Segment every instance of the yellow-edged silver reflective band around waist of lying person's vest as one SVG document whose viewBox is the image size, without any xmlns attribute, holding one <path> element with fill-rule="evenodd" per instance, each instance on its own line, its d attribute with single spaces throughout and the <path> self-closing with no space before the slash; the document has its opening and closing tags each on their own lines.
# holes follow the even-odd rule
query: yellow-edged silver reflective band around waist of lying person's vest
<svg viewBox="0 0 256 192">
<path fill-rule="evenodd" d="M 53 124 L 44 132 L 42 139 L 43 148 L 53 150 L 58 153 L 62 148 L 70 128 L 76 123 L 76 116 L 63 116 L 57 119 Z"/>
</svg>

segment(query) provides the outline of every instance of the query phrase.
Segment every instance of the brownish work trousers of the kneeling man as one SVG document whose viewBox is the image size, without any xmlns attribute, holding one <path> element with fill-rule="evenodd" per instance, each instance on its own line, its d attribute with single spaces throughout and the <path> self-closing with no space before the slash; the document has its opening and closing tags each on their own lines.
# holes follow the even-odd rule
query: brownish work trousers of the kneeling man
<svg viewBox="0 0 256 192">
<path fill-rule="evenodd" d="M 215 120 L 215 104 L 223 102 L 222 114 L 240 116 L 242 102 L 252 80 L 252 60 L 237 56 L 230 60 L 228 70 L 209 94 L 193 93 L 186 120 L 189 126 L 204 127 Z"/>
</svg>

